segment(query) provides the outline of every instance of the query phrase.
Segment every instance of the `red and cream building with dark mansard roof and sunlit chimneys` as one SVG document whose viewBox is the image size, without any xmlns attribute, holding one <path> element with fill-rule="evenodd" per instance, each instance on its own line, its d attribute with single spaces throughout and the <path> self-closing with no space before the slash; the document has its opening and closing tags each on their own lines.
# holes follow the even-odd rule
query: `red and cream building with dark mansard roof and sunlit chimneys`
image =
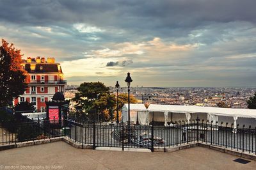
<svg viewBox="0 0 256 170">
<path fill-rule="evenodd" d="M 56 92 L 64 93 L 67 85 L 60 63 L 55 63 L 54 58 L 47 58 L 47 61 L 40 57 L 27 58 L 22 68 L 29 74 L 29 84 L 24 94 L 13 100 L 13 105 L 28 101 L 34 104 L 37 112 L 45 112 L 45 102 Z"/>
</svg>

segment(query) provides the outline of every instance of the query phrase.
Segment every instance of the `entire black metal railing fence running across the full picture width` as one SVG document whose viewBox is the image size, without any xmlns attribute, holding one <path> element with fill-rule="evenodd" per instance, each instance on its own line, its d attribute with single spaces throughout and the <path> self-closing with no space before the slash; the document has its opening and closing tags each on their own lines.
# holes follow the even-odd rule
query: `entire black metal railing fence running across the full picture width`
<svg viewBox="0 0 256 170">
<path fill-rule="evenodd" d="M 176 121 L 163 125 L 127 125 L 64 121 L 0 123 L 0 144 L 66 136 L 82 145 L 122 148 L 172 148 L 203 142 L 256 154 L 256 127 L 200 121 Z"/>
</svg>

